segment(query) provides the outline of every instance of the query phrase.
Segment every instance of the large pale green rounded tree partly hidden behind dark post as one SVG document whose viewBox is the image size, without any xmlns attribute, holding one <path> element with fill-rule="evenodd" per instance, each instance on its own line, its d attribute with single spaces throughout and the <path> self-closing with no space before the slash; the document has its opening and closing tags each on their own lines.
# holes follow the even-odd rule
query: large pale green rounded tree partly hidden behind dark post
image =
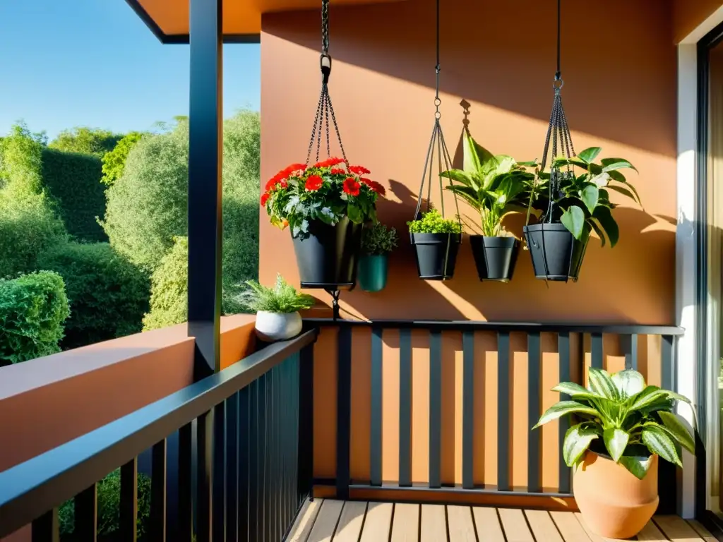
<svg viewBox="0 0 723 542">
<path fill-rule="evenodd" d="M 258 273 L 260 117 L 241 111 L 224 123 L 223 311 L 241 311 L 239 285 Z M 107 191 L 103 229 L 111 245 L 133 262 L 154 270 L 187 236 L 188 123 L 144 137 Z"/>
</svg>

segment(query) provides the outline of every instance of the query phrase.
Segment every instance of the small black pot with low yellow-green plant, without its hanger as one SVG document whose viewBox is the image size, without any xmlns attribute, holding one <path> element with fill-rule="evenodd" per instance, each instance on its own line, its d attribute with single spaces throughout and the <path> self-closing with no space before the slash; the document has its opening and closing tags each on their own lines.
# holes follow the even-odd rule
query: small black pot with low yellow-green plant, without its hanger
<svg viewBox="0 0 723 542">
<path fill-rule="evenodd" d="M 458 220 L 442 218 L 431 209 L 419 220 L 408 222 L 411 244 L 416 255 L 416 269 L 424 280 L 447 280 L 454 275 L 457 251 L 462 241 Z"/>
</svg>

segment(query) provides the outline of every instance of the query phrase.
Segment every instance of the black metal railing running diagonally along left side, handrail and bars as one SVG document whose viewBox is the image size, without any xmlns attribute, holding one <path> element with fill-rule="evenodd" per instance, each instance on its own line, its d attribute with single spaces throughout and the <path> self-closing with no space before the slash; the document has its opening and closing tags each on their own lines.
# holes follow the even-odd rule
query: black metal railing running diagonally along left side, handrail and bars
<svg viewBox="0 0 723 542">
<path fill-rule="evenodd" d="M 96 486 L 120 465 L 112 539 L 139 540 L 137 456 L 153 447 L 146 541 L 280 541 L 312 490 L 316 336 L 312 330 L 270 345 L 0 473 L 0 538 L 32 522 L 34 542 L 58 541 L 59 507 L 74 499 L 72 535 L 65 538 L 95 541 Z M 176 431 L 178 456 L 169 457 L 166 441 Z M 173 517 L 166 507 L 171 463 Z"/>
</svg>

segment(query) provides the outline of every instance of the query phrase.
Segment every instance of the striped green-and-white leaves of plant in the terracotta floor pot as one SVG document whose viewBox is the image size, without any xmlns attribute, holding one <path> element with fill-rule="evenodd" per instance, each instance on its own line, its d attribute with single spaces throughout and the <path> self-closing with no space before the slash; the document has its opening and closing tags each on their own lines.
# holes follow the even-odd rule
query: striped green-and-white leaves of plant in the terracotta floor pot
<svg viewBox="0 0 723 542">
<path fill-rule="evenodd" d="M 642 479 L 653 454 L 682 466 L 676 442 L 695 453 L 693 436 L 682 418 L 673 413 L 676 401 L 690 405 L 690 400 L 657 386 L 646 386 L 638 371 L 611 375 L 603 369 L 591 368 L 587 389 L 562 382 L 552 390 L 569 395 L 570 400 L 552 405 L 533 429 L 560 416 L 580 418 L 579 423 L 568 429 L 562 444 L 562 457 L 568 467 L 577 465 L 592 447 L 594 451 L 607 451 L 615 463 Z"/>
</svg>

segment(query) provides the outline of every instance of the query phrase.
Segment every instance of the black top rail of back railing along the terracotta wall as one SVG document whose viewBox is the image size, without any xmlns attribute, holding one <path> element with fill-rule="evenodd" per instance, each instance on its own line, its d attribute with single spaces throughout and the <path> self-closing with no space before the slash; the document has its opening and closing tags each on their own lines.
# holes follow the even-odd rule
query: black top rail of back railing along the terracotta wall
<svg viewBox="0 0 723 542">
<path fill-rule="evenodd" d="M 617 335 L 684 335 L 685 329 L 674 325 L 656 324 L 580 324 L 570 322 L 482 322 L 475 320 L 356 320 L 333 318 L 304 318 L 307 327 L 367 326 L 382 329 L 409 329 L 440 331 L 502 331 L 502 332 L 569 332 L 614 333 Z"/>
</svg>

